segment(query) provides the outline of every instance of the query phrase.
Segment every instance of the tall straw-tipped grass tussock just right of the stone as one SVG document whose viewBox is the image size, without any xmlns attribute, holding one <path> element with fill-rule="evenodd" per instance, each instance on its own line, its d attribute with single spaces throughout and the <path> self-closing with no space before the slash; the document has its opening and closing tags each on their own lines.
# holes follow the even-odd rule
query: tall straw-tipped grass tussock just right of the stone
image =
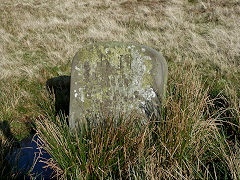
<svg viewBox="0 0 240 180">
<path fill-rule="evenodd" d="M 184 76 L 178 76 L 184 71 Z M 196 69 L 185 66 L 170 73 L 169 96 L 164 108 L 163 123 L 156 132 L 155 165 L 159 177 L 168 179 L 216 179 L 238 177 L 230 169 L 236 157 L 225 156 L 232 150 L 222 138 L 217 126 L 220 119 L 209 113 L 212 100 L 204 89 Z M 177 81 L 176 81 L 177 80 Z M 216 112 L 217 113 L 217 112 Z M 234 167 L 234 166 L 232 166 Z M 230 175 L 231 174 L 231 175 Z"/>
</svg>

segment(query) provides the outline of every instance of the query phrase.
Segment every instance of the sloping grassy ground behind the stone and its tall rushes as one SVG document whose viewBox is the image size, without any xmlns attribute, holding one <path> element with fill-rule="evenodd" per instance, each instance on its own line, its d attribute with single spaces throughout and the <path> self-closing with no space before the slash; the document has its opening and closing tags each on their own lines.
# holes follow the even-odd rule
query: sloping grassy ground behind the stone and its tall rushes
<svg viewBox="0 0 240 180">
<path fill-rule="evenodd" d="M 231 109 L 221 118 L 235 124 L 227 134 L 239 136 L 238 0 L 0 0 L 0 12 L 0 122 L 8 135 L 22 139 L 30 122 L 54 114 L 45 83 L 70 75 L 79 48 L 112 40 L 159 50 L 169 64 L 169 86 L 178 83 L 175 76 L 191 81 L 184 76 L 191 69 L 209 97 L 220 99 L 211 101 L 212 111 Z"/>
</svg>

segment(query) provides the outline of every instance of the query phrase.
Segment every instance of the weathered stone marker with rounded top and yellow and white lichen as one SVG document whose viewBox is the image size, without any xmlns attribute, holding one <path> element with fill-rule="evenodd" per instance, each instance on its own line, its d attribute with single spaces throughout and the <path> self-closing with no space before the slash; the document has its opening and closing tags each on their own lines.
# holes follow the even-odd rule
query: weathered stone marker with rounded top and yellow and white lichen
<svg viewBox="0 0 240 180">
<path fill-rule="evenodd" d="M 100 114 L 158 116 L 166 83 L 167 63 L 152 48 L 121 42 L 83 47 L 72 63 L 70 129 L 97 124 Z"/>
</svg>

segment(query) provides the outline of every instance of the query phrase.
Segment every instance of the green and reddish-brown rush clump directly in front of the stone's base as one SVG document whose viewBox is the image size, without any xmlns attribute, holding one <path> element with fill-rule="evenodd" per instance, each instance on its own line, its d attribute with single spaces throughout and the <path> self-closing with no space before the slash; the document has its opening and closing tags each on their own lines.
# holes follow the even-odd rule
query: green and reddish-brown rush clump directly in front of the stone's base
<svg viewBox="0 0 240 180">
<path fill-rule="evenodd" d="M 71 179 L 131 176 L 129 168 L 141 161 L 147 130 L 140 128 L 141 119 L 134 114 L 127 121 L 124 118 L 120 116 L 116 127 L 113 117 L 103 116 L 99 119 L 102 123 L 94 127 L 82 125 L 81 131 L 75 133 L 70 132 L 64 118 L 38 121 L 38 133 L 53 157 L 46 163 L 57 175 Z"/>
</svg>

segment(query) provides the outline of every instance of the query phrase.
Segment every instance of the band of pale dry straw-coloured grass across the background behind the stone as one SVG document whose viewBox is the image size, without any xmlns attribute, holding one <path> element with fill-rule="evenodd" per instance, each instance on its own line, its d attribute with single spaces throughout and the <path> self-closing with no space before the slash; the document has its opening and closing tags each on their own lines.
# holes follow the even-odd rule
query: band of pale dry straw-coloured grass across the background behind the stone
<svg viewBox="0 0 240 180">
<path fill-rule="evenodd" d="M 1 1 L 1 78 L 35 77 L 102 40 L 135 41 L 172 61 L 211 60 L 238 72 L 238 1 Z"/>
</svg>

